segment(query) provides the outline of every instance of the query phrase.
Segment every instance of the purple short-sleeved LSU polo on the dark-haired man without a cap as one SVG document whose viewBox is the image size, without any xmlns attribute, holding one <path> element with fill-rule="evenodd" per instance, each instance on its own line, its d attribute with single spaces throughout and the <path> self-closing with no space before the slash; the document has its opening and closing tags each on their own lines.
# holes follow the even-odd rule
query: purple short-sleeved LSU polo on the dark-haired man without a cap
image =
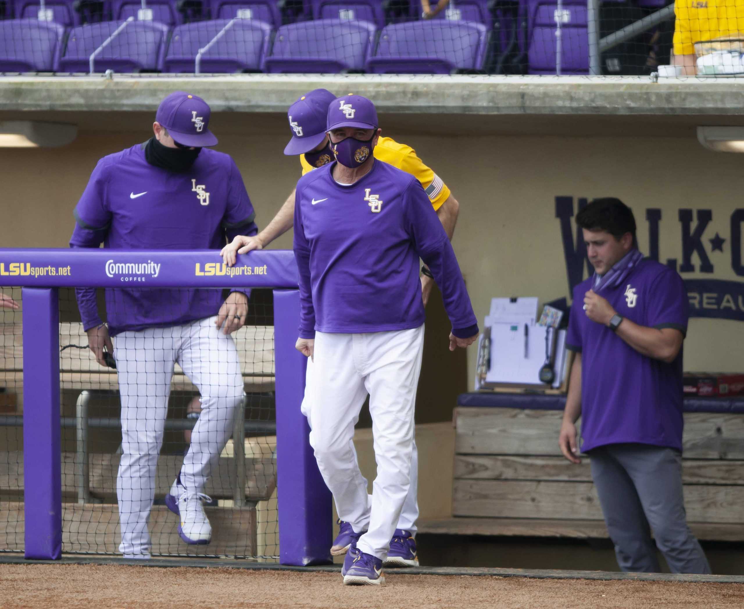
<svg viewBox="0 0 744 609">
<path fill-rule="evenodd" d="M 664 361 L 641 355 L 582 306 L 592 278 L 574 288 L 566 347 L 581 356 L 582 450 L 638 442 L 682 450 L 682 349 Z M 601 289 L 618 315 L 650 328 L 687 332 L 682 277 L 643 260 L 617 288 Z"/>
</svg>

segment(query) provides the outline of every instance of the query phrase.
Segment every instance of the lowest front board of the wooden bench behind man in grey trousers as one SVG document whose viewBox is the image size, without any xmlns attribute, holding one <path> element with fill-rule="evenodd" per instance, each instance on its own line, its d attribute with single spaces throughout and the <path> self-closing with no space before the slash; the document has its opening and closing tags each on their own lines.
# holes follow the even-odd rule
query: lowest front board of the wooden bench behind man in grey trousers
<svg viewBox="0 0 744 609">
<path fill-rule="evenodd" d="M 744 488 L 685 486 L 684 506 L 689 521 L 744 523 Z M 455 480 L 452 513 L 489 518 L 603 518 L 594 485 L 582 482 Z"/>
</svg>

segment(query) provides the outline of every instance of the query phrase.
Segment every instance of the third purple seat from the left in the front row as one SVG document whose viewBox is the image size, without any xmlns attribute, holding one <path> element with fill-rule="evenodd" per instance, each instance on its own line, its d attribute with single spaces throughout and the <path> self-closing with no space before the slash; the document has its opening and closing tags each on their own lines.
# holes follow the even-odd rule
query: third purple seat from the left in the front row
<svg viewBox="0 0 744 609">
<path fill-rule="evenodd" d="M 228 27 L 229 26 L 229 27 Z M 202 55 L 201 71 L 258 72 L 269 52 L 269 24 L 253 19 L 214 19 L 179 25 L 165 55 L 165 72 L 194 72 L 196 54 L 224 30 Z"/>
</svg>

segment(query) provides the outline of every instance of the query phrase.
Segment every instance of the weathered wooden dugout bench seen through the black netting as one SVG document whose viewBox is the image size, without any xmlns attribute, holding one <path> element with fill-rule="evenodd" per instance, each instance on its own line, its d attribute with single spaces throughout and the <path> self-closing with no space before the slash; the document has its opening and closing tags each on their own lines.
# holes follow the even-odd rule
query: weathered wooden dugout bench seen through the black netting
<svg viewBox="0 0 744 609">
<path fill-rule="evenodd" d="M 275 390 L 274 328 L 244 326 L 233 334 L 242 363 L 246 393 Z M 60 347 L 86 346 L 88 338 L 80 323 L 60 323 Z M 24 382 L 21 323 L 0 323 L 0 387 L 22 396 Z M 26 377 L 28 379 L 28 376 Z M 28 380 L 27 380 L 28 382 Z M 105 545 L 109 551 L 118 545 L 116 474 L 120 454 L 92 454 L 88 451 L 91 426 L 116 428 L 118 419 L 89 419 L 89 402 L 100 392 L 118 393 L 116 370 L 101 367 L 89 349 L 69 348 L 60 352 L 60 389 L 79 393 L 74 421 L 63 423 L 76 429 L 76 451 L 62 453 L 62 485 L 70 489 L 74 481 L 77 505 L 63 504 L 63 542 L 67 551 L 91 551 Z M 172 390 L 197 393 L 183 370 L 176 364 Z M 19 426 L 19 415 L 2 417 L 4 424 Z M 13 421 L 13 419 L 16 419 Z M 190 428 L 183 419 L 168 420 L 167 428 Z M 248 435 L 259 435 L 246 439 Z M 267 501 L 276 489 L 276 440 L 273 422 L 246 422 L 245 408 L 239 408 L 234 422 L 233 442 L 223 451 L 205 493 L 214 499 L 231 500 L 231 509 L 207 508 L 213 524 L 213 541 L 208 546 L 188 547 L 189 554 L 255 555 L 257 552 L 257 503 Z M 246 454 L 247 453 L 247 454 Z M 182 456 L 161 454 L 155 478 L 155 497 L 170 489 L 183 461 Z M 0 449 L 0 494 L 19 494 L 23 490 L 22 451 Z M 104 503 L 101 503 L 104 502 Z M 22 538 L 23 504 L 0 503 L 7 518 L 0 519 L 0 538 Z M 13 515 L 16 515 L 14 518 Z M 179 546 L 171 521 L 175 517 L 164 506 L 153 506 L 151 526 L 153 551 L 169 553 Z M 20 527 L 20 528 L 19 528 Z M 94 531 L 94 532 L 91 532 Z M 5 533 L 5 535 L 2 535 Z M 85 541 L 85 539 L 88 541 Z M 1 544 L 0 544 L 1 546 Z M 170 548 L 170 550 L 168 550 Z M 1 549 L 1 548 L 0 548 Z M 180 547 L 179 553 L 184 548 Z"/>
</svg>

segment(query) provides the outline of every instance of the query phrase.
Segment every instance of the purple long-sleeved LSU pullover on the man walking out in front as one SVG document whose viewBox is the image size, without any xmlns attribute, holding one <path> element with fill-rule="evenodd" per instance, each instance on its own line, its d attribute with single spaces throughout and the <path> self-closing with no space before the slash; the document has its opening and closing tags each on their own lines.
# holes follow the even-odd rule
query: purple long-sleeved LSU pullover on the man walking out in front
<svg viewBox="0 0 744 609">
<path fill-rule="evenodd" d="M 444 228 L 414 176 L 383 161 L 350 186 L 336 163 L 297 183 L 295 258 L 300 337 L 417 328 L 424 322 L 419 257 L 442 291 L 452 332 L 478 332 L 465 283 Z"/>
</svg>

